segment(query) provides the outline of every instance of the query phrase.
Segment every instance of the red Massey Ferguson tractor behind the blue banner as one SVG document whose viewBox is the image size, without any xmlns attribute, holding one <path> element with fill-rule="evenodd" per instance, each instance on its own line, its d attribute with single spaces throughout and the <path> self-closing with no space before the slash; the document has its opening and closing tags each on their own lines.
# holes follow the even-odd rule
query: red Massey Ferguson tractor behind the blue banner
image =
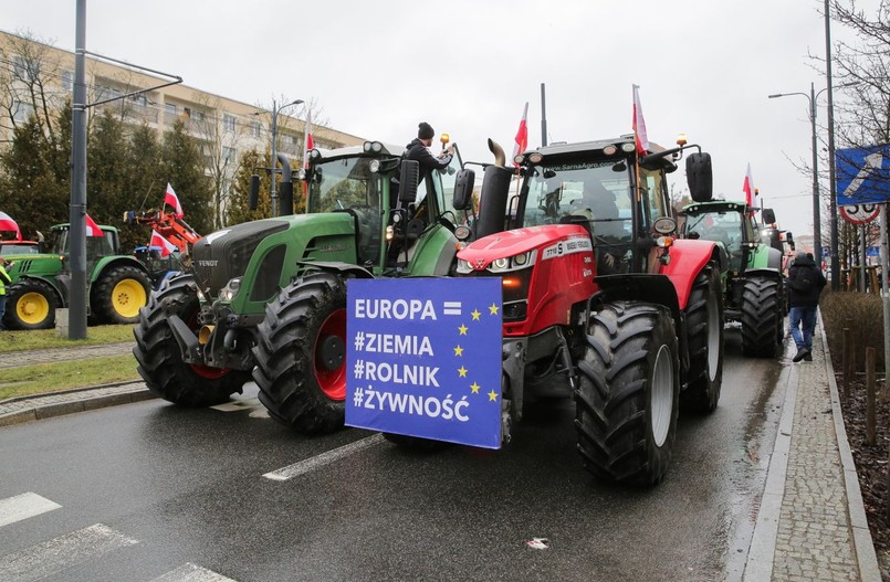
<svg viewBox="0 0 890 582">
<path fill-rule="evenodd" d="M 587 469 L 655 484 L 670 464 L 680 403 L 716 408 L 719 250 L 674 236 L 666 180 L 698 148 L 689 187 L 710 195 L 711 161 L 679 144 L 641 157 L 632 135 L 530 150 L 514 160 L 522 186 L 512 197 L 512 170 L 485 168 L 477 240 L 458 268 L 502 278 L 504 442 L 524 409 L 574 396 Z"/>
</svg>

